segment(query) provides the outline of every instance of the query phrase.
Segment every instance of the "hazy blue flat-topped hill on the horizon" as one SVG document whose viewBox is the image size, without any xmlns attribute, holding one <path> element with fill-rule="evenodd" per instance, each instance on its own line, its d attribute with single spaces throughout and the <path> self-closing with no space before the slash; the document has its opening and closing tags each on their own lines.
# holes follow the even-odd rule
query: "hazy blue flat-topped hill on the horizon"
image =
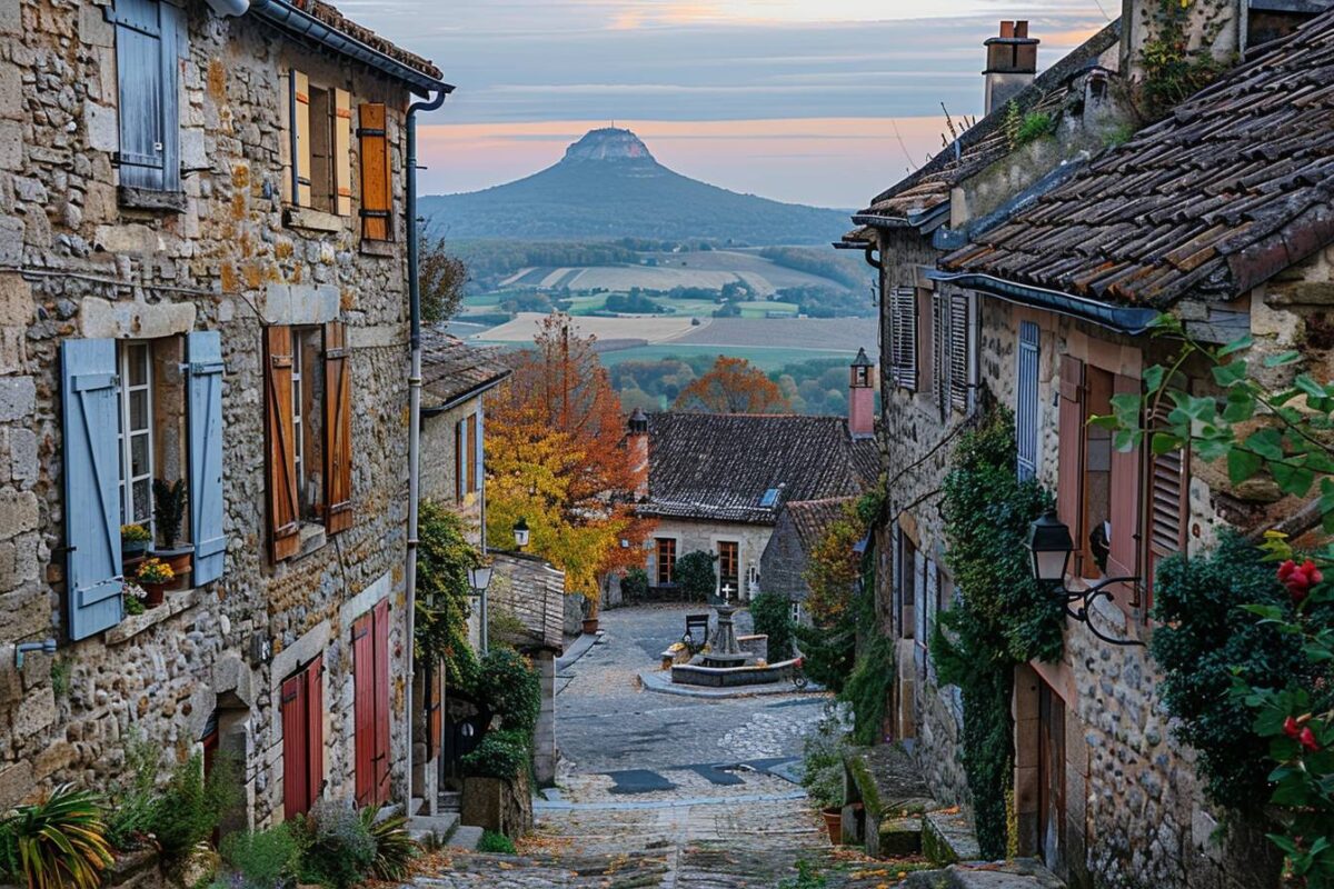
<svg viewBox="0 0 1334 889">
<path fill-rule="evenodd" d="M 740 195 L 672 172 L 628 129 L 594 129 L 555 165 L 480 192 L 423 196 L 427 231 L 451 241 L 643 237 L 828 244 L 843 211 Z"/>
</svg>

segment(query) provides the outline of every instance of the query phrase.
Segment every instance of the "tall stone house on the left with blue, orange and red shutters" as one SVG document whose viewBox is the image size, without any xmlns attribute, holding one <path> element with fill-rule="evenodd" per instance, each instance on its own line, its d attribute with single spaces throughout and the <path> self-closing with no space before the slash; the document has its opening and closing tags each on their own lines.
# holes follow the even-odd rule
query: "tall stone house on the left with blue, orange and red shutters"
<svg viewBox="0 0 1334 889">
<path fill-rule="evenodd" d="M 406 124 L 450 87 L 317 0 L 221 5 L 0 8 L 4 805 L 132 733 L 233 753 L 253 824 L 407 796 Z M 179 589 L 129 616 L 176 480 Z"/>
</svg>

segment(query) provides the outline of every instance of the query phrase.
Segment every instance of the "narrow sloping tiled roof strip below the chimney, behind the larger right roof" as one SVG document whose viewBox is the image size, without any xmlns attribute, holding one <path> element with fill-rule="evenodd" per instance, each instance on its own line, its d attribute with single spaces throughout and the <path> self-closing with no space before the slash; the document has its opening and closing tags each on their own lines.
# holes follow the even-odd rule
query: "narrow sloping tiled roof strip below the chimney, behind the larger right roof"
<svg viewBox="0 0 1334 889">
<path fill-rule="evenodd" d="M 1054 112 L 1066 100 L 1071 77 L 1094 63 L 1103 52 L 1121 40 L 1121 21 L 1114 21 L 1081 47 L 1047 68 L 1026 89 L 1014 97 L 1021 112 Z M 1005 131 L 1006 105 L 996 108 L 963 133 L 926 165 L 898 184 L 876 195 L 871 205 L 856 215 L 883 220 L 907 220 L 928 213 L 950 200 L 950 189 L 986 169 L 1010 153 L 1010 140 Z M 856 229 L 844 240 L 866 240 L 867 232 Z"/>
</svg>

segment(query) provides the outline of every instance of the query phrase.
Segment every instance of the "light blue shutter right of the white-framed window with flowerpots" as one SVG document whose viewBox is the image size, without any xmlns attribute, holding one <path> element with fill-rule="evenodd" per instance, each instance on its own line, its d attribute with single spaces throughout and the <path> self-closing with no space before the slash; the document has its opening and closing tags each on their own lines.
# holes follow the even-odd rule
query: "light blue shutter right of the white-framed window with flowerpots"
<svg viewBox="0 0 1334 889">
<path fill-rule="evenodd" d="M 189 356 L 189 529 L 195 586 L 223 576 L 223 340 L 217 331 L 187 337 Z"/>
</svg>

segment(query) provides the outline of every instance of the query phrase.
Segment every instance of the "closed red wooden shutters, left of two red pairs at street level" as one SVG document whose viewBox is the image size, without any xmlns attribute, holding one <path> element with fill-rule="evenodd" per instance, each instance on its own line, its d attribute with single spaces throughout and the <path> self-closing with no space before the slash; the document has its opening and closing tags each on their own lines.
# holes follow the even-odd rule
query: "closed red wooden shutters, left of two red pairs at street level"
<svg viewBox="0 0 1334 889">
<path fill-rule="evenodd" d="M 279 690 L 283 717 L 283 813 L 305 814 L 324 790 L 324 658 L 289 676 Z"/>
</svg>

